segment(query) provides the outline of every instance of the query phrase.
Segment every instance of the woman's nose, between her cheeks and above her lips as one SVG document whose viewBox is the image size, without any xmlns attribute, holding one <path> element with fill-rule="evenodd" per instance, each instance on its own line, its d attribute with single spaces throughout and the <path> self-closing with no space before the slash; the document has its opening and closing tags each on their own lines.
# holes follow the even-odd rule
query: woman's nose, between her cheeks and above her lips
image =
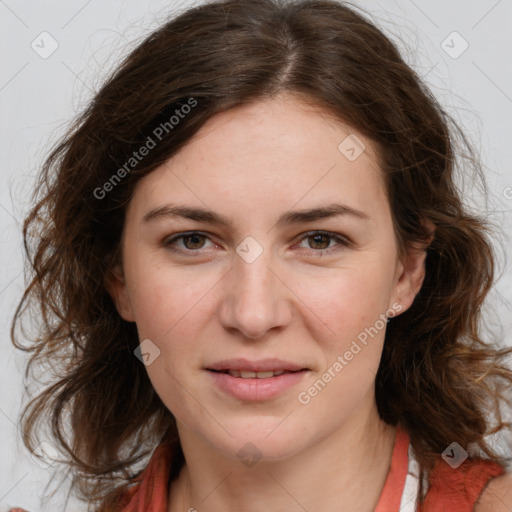
<svg viewBox="0 0 512 512">
<path fill-rule="evenodd" d="M 235 255 L 226 279 L 220 308 L 220 321 L 226 329 L 259 339 L 290 323 L 293 293 L 272 265 L 270 250 L 251 263 Z"/>
</svg>

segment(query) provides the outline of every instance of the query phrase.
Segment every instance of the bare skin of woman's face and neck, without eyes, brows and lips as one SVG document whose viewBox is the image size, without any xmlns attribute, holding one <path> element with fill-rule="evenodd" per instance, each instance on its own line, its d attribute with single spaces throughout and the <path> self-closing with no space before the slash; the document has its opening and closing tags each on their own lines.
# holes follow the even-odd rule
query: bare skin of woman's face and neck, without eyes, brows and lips
<svg viewBox="0 0 512 512">
<path fill-rule="evenodd" d="M 366 146 L 354 161 L 338 150 L 349 134 Z M 276 226 L 282 213 L 334 202 L 367 219 Z M 143 220 L 168 203 L 232 224 Z M 207 238 L 174 242 L 182 253 L 165 245 L 193 230 Z M 350 243 L 312 238 L 313 230 Z M 247 236 L 263 251 L 252 263 L 236 252 Z M 336 251 L 319 255 L 326 246 Z M 146 368 L 186 458 L 168 510 L 372 511 L 395 438 L 374 397 L 385 328 L 308 404 L 297 400 L 379 315 L 397 303 L 405 311 L 424 278 L 424 251 L 398 256 L 370 140 L 289 94 L 218 114 L 138 182 L 122 254 L 109 291 L 140 340 L 160 350 Z M 278 357 L 310 371 L 252 403 L 223 394 L 204 369 L 231 357 Z M 261 454 L 250 468 L 237 457 L 247 442 Z"/>
</svg>

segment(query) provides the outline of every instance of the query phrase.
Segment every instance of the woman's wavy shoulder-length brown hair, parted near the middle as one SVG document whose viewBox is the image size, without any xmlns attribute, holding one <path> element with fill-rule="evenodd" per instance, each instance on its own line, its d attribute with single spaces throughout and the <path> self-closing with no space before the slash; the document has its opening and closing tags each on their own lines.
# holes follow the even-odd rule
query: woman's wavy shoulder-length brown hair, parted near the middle
<svg viewBox="0 0 512 512">
<path fill-rule="evenodd" d="M 12 326 L 13 343 L 31 354 L 26 378 L 47 372 L 23 410 L 23 440 L 32 450 L 47 425 L 90 506 L 114 510 L 166 434 L 173 478 L 184 463 L 173 415 L 134 356 L 136 326 L 105 287 L 120 261 L 134 185 L 212 116 L 280 92 L 374 142 L 401 254 L 435 227 L 423 286 L 387 328 L 375 384 L 382 419 L 406 428 L 425 474 L 453 441 L 506 462 L 486 437 L 508 426 L 500 405 L 512 383 L 510 351 L 480 328 L 495 256 L 489 227 L 463 205 L 456 183 L 458 170 L 483 180 L 481 165 L 397 47 L 357 9 L 331 0 L 226 0 L 185 10 L 125 58 L 44 163 L 23 230 L 30 281 Z M 119 173 L 191 99 L 196 106 L 179 124 Z M 17 326 L 24 332 L 27 315 L 41 322 L 22 344 Z"/>
</svg>

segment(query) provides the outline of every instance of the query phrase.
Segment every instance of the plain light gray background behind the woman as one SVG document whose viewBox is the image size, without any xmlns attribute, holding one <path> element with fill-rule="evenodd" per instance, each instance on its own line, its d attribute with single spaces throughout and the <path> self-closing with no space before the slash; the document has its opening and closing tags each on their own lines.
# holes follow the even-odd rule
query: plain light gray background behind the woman
<svg viewBox="0 0 512 512">
<path fill-rule="evenodd" d="M 512 345 L 512 1 L 359 1 L 381 27 L 407 45 L 407 61 L 461 122 L 481 152 L 490 186 L 480 213 L 502 228 L 503 274 L 489 302 L 490 324 Z M 25 354 L 9 340 L 9 325 L 23 291 L 20 224 L 35 172 L 68 121 L 102 78 L 140 37 L 178 6 L 172 0 L 0 0 L 0 502 L 31 512 L 54 510 L 40 496 L 51 469 L 39 467 L 22 446 L 17 418 L 23 398 Z M 43 59 L 31 47 L 57 50 Z M 458 35 L 450 35 L 454 31 Z M 448 39 L 447 39 L 448 38 Z M 443 43 L 443 41 L 445 41 Z M 469 45 L 457 58 L 465 46 Z M 449 46 L 450 56 L 443 46 Z M 42 48 L 40 51 L 43 51 Z M 468 190 L 468 195 L 471 191 Z M 64 493 L 52 502 L 63 503 Z M 71 502 L 73 503 L 73 502 Z M 62 510 L 61 507 L 58 508 Z M 55 509 L 57 510 L 57 509 Z M 70 505 L 67 510 L 85 510 Z"/>
</svg>

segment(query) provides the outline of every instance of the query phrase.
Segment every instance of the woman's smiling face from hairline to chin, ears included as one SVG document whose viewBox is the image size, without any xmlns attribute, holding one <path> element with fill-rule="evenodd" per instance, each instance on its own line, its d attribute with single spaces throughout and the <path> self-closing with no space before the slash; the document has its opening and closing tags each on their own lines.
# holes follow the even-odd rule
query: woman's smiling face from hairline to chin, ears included
<svg viewBox="0 0 512 512">
<path fill-rule="evenodd" d="M 371 142 L 287 95 L 217 115 L 140 180 L 122 255 L 109 290 L 156 392 L 229 458 L 289 457 L 374 409 L 386 317 L 424 267 L 398 258 Z"/>
</svg>

